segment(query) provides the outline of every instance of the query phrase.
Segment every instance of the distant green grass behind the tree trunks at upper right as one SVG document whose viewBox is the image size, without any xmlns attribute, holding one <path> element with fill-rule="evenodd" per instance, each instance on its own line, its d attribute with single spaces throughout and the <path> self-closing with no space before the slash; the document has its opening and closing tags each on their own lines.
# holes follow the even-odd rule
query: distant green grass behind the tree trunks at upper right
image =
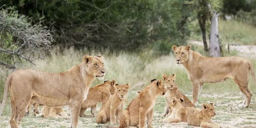
<svg viewBox="0 0 256 128">
<path fill-rule="evenodd" d="M 210 22 L 209 22 L 210 23 Z M 210 28 L 210 26 L 207 26 Z M 202 34 L 198 25 L 198 21 L 190 24 L 191 37 L 190 40 L 202 41 Z M 256 45 L 256 27 L 244 22 L 236 20 L 218 20 L 218 31 L 221 43 L 238 44 L 238 45 Z M 207 32 L 207 42 L 209 44 L 209 32 Z"/>
</svg>

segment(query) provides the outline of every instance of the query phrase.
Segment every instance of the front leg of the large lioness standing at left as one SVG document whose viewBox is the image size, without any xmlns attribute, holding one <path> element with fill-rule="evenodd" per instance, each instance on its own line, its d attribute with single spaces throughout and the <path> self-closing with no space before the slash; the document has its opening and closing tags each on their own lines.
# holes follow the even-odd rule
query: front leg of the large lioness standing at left
<svg viewBox="0 0 256 128">
<path fill-rule="evenodd" d="M 71 128 L 77 128 L 82 100 L 71 100 L 69 102 Z"/>
</svg>

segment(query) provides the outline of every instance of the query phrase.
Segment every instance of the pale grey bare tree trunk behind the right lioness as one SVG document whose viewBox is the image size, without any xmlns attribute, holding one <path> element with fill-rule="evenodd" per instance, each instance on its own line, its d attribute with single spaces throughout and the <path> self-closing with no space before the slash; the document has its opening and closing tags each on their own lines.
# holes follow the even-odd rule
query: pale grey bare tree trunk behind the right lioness
<svg viewBox="0 0 256 128">
<path fill-rule="evenodd" d="M 209 55 L 214 57 L 219 57 L 221 54 L 221 50 L 220 50 L 220 42 L 219 42 L 219 35 L 218 35 L 218 14 L 212 10 L 210 4 L 208 4 L 208 8 L 211 12 Z"/>
</svg>

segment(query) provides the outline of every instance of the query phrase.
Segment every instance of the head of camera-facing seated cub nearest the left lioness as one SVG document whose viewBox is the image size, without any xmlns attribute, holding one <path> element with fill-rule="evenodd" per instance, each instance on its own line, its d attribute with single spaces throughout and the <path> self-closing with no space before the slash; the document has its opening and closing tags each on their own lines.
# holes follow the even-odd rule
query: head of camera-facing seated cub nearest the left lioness
<svg viewBox="0 0 256 128">
<path fill-rule="evenodd" d="M 129 88 L 130 88 L 129 83 L 115 86 L 115 95 L 118 95 L 120 99 L 126 99 L 126 95 Z"/>
</svg>

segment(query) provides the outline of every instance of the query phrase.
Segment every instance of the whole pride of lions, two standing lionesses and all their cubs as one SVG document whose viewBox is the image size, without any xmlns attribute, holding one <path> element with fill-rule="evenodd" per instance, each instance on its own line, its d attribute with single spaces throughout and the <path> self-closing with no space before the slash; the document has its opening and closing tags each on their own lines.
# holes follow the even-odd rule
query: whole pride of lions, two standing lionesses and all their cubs
<svg viewBox="0 0 256 128">
<path fill-rule="evenodd" d="M 36 70 L 17 70 L 6 79 L 0 115 L 3 112 L 8 90 L 12 105 L 11 128 L 21 128 L 24 115 L 45 118 L 71 118 L 71 128 L 77 128 L 78 119 L 86 117 L 84 111 L 91 110 L 91 117 L 97 123 L 119 124 L 118 128 L 153 126 L 153 109 L 159 95 L 165 95 L 163 123 L 188 122 L 188 125 L 205 128 L 220 128 L 212 121 L 216 115 L 214 104 L 198 105 L 198 96 L 203 83 L 223 82 L 232 78 L 243 93 L 244 100 L 239 107 L 248 107 L 252 92 L 248 89 L 248 77 L 251 72 L 256 83 L 253 65 L 241 57 L 205 57 L 192 51 L 191 46 L 173 46 L 176 63 L 182 64 L 188 73 L 193 87 L 193 102 L 190 101 L 175 84 L 176 74 L 163 75 L 163 81 L 151 79 L 150 84 L 141 90 L 125 109 L 130 84 L 118 84 L 115 80 L 90 88 L 95 77 L 104 79 L 105 68 L 102 55 L 83 57 L 83 62 L 62 73 L 40 72 Z M 96 114 L 96 105 L 102 103 Z M 41 113 L 38 106 L 42 105 Z M 69 105 L 70 116 L 62 106 Z M 107 126 L 114 128 L 115 126 Z"/>
</svg>

